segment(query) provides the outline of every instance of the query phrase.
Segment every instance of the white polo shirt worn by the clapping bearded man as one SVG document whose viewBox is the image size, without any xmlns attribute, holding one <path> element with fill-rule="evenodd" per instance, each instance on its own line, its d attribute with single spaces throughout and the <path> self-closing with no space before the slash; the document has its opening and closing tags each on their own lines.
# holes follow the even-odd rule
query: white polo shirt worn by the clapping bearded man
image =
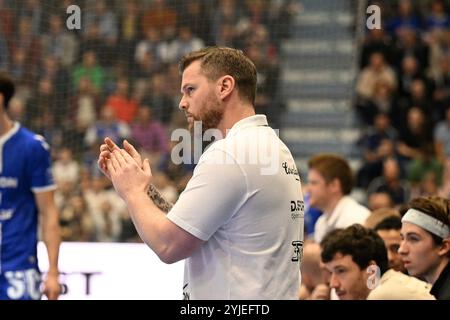
<svg viewBox="0 0 450 320">
<path fill-rule="evenodd" d="M 303 196 L 266 117 L 237 122 L 200 157 L 167 217 L 206 241 L 186 260 L 188 299 L 297 299 Z"/>
</svg>

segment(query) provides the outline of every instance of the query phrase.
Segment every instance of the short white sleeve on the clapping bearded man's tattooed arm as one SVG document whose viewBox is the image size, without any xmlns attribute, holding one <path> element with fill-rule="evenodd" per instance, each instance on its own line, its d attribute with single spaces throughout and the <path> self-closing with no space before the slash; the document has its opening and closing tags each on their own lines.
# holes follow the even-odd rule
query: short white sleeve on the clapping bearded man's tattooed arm
<svg viewBox="0 0 450 320">
<path fill-rule="evenodd" d="M 167 217 L 195 237 L 207 241 L 242 207 L 247 197 L 243 169 L 235 161 L 215 164 L 211 159 L 225 159 L 223 150 L 208 152 Z"/>
</svg>

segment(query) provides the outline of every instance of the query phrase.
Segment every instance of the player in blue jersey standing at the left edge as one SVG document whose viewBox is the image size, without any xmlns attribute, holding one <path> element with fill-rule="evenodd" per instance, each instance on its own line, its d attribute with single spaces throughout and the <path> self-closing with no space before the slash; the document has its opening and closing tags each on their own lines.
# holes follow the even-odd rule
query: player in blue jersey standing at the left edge
<svg viewBox="0 0 450 320">
<path fill-rule="evenodd" d="M 42 289 L 57 299 L 61 240 L 49 146 L 7 115 L 14 91 L 12 80 L 0 73 L 0 300 L 41 298 L 38 212 L 49 258 Z"/>
</svg>

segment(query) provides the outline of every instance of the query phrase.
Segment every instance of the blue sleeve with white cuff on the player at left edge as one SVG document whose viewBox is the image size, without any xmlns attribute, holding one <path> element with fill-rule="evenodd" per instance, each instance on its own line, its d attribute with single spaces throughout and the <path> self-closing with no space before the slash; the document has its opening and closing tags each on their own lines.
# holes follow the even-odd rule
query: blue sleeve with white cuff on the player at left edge
<svg viewBox="0 0 450 320">
<path fill-rule="evenodd" d="M 50 146 L 40 135 L 35 135 L 30 148 L 28 172 L 33 192 L 56 189 L 50 157 Z"/>
</svg>

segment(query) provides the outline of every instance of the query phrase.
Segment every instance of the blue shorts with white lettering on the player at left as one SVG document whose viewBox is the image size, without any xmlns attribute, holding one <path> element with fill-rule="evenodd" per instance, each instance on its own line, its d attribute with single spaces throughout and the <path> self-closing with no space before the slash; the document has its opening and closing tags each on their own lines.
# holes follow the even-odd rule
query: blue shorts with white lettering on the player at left
<svg viewBox="0 0 450 320">
<path fill-rule="evenodd" d="M 41 273 L 37 269 L 0 273 L 0 300 L 40 300 Z"/>
</svg>

